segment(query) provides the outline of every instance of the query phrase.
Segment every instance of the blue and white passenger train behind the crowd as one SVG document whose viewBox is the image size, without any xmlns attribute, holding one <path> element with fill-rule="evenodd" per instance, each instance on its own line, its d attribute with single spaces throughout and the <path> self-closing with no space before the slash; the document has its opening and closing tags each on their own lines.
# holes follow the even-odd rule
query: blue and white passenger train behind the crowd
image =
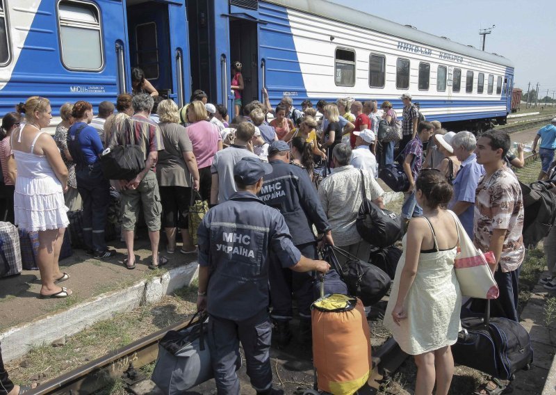
<svg viewBox="0 0 556 395">
<path fill-rule="evenodd" d="M 179 104 L 202 89 L 230 107 L 233 61 L 244 104 L 264 86 L 272 104 L 349 96 L 401 115 L 408 92 L 428 120 L 474 130 L 510 112 L 506 58 L 326 0 L 0 0 L 0 115 L 31 95 L 54 113 L 114 100 L 135 66 Z"/>
</svg>

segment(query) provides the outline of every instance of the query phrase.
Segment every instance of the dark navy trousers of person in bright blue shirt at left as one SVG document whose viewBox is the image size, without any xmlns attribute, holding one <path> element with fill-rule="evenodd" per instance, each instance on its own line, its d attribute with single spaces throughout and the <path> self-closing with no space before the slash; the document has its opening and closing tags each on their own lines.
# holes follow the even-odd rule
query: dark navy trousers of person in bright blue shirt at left
<svg viewBox="0 0 556 395">
<path fill-rule="evenodd" d="M 106 251 L 104 227 L 110 203 L 110 183 L 104 178 L 100 163 L 76 169 L 77 190 L 83 200 L 83 241 L 87 248 Z"/>
</svg>

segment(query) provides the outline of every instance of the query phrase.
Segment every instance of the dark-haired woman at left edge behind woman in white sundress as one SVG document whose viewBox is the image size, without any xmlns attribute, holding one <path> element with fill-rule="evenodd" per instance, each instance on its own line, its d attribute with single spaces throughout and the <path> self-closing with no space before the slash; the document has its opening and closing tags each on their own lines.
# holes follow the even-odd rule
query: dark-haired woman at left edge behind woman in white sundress
<svg viewBox="0 0 556 395">
<path fill-rule="evenodd" d="M 14 223 L 13 193 L 17 168 L 10 145 L 10 136 L 19 128 L 22 116 L 19 113 L 7 113 L 2 118 L 0 127 L 0 165 L 3 182 L 0 182 L 0 221 Z"/>
</svg>

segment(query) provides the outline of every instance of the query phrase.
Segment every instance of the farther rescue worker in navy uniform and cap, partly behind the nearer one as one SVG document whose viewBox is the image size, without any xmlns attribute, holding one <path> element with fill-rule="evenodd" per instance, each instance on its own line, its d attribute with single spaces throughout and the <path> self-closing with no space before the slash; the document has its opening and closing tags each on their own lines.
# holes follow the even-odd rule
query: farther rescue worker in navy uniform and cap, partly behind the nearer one
<svg viewBox="0 0 556 395">
<path fill-rule="evenodd" d="M 265 175 L 259 197 L 270 207 L 279 209 L 291 232 L 293 244 L 302 255 L 311 259 L 318 257 L 318 234 L 324 241 L 334 245 L 331 227 L 316 189 L 303 168 L 290 163 L 290 147 L 284 141 L 273 141 L 268 149 L 268 162 L 272 173 Z M 311 303 L 314 301 L 313 273 L 293 273 L 279 263 L 270 266 L 270 319 L 274 324 L 273 335 L 278 348 L 284 348 L 291 340 L 289 321 L 292 319 L 292 293 L 297 300 L 300 315 L 302 341 L 311 338 Z"/>
</svg>

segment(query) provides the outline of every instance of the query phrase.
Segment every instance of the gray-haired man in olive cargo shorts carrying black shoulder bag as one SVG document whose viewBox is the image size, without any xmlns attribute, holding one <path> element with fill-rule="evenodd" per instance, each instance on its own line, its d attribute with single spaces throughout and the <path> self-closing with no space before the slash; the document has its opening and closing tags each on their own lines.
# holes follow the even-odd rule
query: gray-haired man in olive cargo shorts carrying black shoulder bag
<svg viewBox="0 0 556 395">
<path fill-rule="evenodd" d="M 161 229 L 161 197 L 156 182 L 154 166 L 158 161 L 158 151 L 164 150 L 161 130 L 156 122 L 150 120 L 154 100 L 146 93 L 133 96 L 131 106 L 135 114 L 126 118 L 120 130 L 114 129 L 109 147 L 116 145 L 138 145 L 145 159 L 145 168 L 131 180 L 120 180 L 122 204 L 122 235 L 126 242 L 127 257 L 124 259 L 126 268 L 134 269 L 135 253 L 133 252 L 133 232 L 142 207 L 145 223 L 149 229 L 151 240 L 152 262 L 149 268 L 158 268 L 167 263 L 167 259 L 158 255 L 158 243 Z"/>
</svg>

